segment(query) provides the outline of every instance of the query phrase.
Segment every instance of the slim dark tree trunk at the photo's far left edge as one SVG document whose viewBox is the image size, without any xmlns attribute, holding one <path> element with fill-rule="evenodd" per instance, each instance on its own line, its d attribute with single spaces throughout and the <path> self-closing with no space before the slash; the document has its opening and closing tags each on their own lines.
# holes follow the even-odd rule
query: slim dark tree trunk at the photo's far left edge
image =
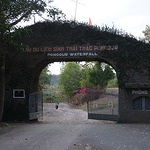
<svg viewBox="0 0 150 150">
<path fill-rule="evenodd" d="M 0 122 L 2 121 L 5 99 L 5 56 L 0 57 Z"/>
</svg>

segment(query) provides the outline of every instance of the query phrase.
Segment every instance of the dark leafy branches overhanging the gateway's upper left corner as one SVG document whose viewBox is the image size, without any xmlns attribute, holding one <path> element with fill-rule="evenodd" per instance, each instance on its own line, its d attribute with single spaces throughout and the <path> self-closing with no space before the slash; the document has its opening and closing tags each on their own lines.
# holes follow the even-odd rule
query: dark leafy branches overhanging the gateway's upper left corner
<svg viewBox="0 0 150 150">
<path fill-rule="evenodd" d="M 34 13 L 44 12 L 46 3 L 43 0 L 0 0 L 0 52 L 8 50 L 8 46 L 22 49 L 18 38 L 26 32 L 17 24 L 30 20 Z"/>
</svg>

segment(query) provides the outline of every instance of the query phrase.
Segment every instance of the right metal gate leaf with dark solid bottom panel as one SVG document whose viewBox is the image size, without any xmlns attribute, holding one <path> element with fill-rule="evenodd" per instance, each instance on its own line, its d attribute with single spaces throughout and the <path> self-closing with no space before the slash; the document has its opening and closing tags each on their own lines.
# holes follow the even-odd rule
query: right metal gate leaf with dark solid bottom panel
<svg viewBox="0 0 150 150">
<path fill-rule="evenodd" d="M 118 92 L 110 91 L 101 93 L 97 100 L 88 101 L 88 119 L 118 120 Z"/>
</svg>

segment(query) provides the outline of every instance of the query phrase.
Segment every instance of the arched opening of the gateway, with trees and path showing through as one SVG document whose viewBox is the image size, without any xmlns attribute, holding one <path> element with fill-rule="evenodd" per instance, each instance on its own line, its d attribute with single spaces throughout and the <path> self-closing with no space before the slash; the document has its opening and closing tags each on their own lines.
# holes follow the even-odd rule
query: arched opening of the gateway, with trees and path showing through
<svg viewBox="0 0 150 150">
<path fill-rule="evenodd" d="M 49 76 L 48 82 L 41 81 L 43 72 Z M 63 107 L 67 109 L 67 103 L 72 108 L 88 111 L 88 114 L 118 115 L 117 75 L 110 65 L 100 62 L 55 62 L 45 67 L 41 75 L 39 87 L 43 92 L 44 117 L 49 116 L 47 119 L 54 119 L 58 114 L 56 103 L 59 103 L 61 111 L 64 111 Z M 84 119 L 87 119 L 86 116 Z"/>
</svg>

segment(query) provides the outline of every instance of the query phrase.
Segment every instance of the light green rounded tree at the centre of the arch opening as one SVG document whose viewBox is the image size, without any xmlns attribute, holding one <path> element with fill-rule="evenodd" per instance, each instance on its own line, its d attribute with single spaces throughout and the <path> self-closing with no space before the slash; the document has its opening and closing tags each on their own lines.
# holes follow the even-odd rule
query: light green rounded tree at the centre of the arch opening
<svg viewBox="0 0 150 150">
<path fill-rule="evenodd" d="M 80 89 L 81 69 L 78 63 L 66 63 L 60 74 L 60 85 L 64 93 L 72 96 L 73 91 Z"/>
</svg>

